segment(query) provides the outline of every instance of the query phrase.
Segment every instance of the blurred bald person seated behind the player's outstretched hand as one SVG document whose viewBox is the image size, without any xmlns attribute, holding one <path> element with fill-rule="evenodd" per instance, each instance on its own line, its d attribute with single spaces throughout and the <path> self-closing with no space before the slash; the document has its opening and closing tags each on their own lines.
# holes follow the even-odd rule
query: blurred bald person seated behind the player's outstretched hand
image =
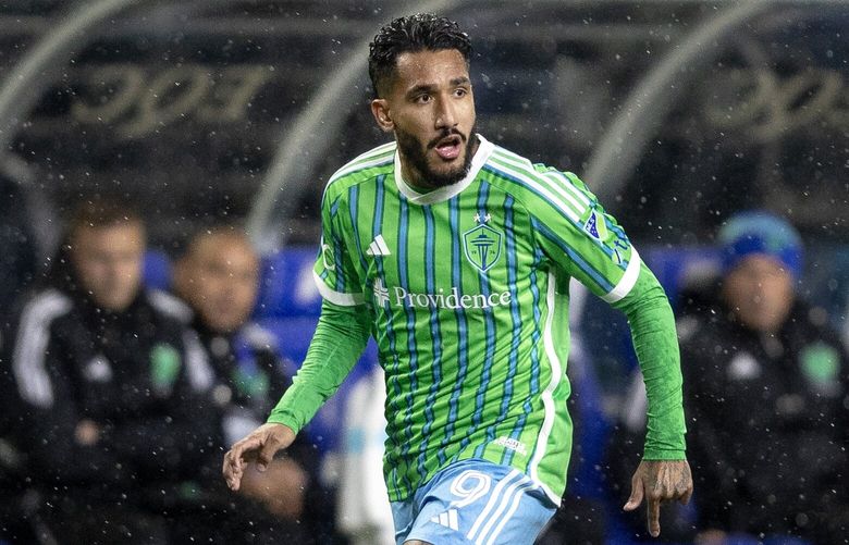
<svg viewBox="0 0 849 545">
<path fill-rule="evenodd" d="M 305 445 L 288 450 L 264 474 L 249 471 L 238 496 L 218 478 L 224 451 L 264 422 L 294 371 L 274 336 L 249 321 L 258 287 L 259 258 L 232 226 L 195 236 L 174 269 L 174 289 L 188 302 L 186 318 L 214 370 L 211 405 L 220 428 L 201 475 L 204 494 L 177 524 L 180 543 L 306 543 L 312 534 L 300 520 L 309 481 Z"/>
</svg>

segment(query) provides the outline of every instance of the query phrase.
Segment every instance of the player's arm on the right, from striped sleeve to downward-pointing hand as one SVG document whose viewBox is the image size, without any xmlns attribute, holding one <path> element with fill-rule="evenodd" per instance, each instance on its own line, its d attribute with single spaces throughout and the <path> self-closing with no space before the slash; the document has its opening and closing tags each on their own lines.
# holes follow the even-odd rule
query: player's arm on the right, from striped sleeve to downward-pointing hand
<svg viewBox="0 0 849 545">
<path fill-rule="evenodd" d="M 540 171 L 541 187 L 568 197 L 538 201 L 537 240 L 573 277 L 628 318 L 648 397 L 643 460 L 627 508 L 648 499 L 648 525 L 660 533 L 660 504 L 688 501 L 692 478 L 685 451 L 681 370 L 675 318 L 657 278 L 625 231 L 571 173 Z"/>
</svg>

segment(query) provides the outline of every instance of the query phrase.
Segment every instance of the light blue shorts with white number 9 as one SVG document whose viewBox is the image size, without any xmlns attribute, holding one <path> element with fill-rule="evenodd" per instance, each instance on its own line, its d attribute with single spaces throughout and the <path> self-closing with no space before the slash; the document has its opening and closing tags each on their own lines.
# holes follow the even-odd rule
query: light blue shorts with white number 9
<svg viewBox="0 0 849 545">
<path fill-rule="evenodd" d="M 452 463 L 404 501 L 392 503 L 395 542 L 532 544 L 557 506 L 525 473 L 472 459 Z"/>
</svg>

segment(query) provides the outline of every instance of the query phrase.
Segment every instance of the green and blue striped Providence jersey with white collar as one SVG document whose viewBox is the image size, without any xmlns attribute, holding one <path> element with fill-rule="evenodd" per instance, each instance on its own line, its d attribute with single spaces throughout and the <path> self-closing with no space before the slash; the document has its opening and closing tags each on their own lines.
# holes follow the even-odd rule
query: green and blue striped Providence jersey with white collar
<svg viewBox="0 0 849 545">
<path fill-rule="evenodd" d="M 641 270 L 653 283 L 639 285 L 656 281 L 574 174 L 482 137 L 452 186 L 419 194 L 401 172 L 393 143 L 332 176 L 315 268 L 327 300 L 362 305 L 372 319 L 390 498 L 453 461 L 483 458 L 558 501 L 571 447 L 569 278 L 611 304 Z M 677 370 L 677 350 L 670 358 Z"/>
</svg>

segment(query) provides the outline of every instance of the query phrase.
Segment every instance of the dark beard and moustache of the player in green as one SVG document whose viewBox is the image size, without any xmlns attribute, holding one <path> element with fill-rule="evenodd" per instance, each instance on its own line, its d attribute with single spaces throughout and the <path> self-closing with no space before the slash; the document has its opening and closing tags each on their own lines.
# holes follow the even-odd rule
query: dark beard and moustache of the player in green
<svg viewBox="0 0 849 545">
<path fill-rule="evenodd" d="M 410 133 L 406 133 L 403 129 L 395 127 L 395 139 L 398 143 L 401 156 L 406 161 L 409 161 L 409 165 L 411 166 L 409 170 L 422 177 L 422 179 L 408 179 L 407 182 L 415 186 L 438 188 L 456 184 L 466 177 L 466 174 L 469 173 L 469 169 L 471 168 L 471 159 L 473 157 L 472 150 L 478 140 L 475 129 L 476 127 L 472 127 L 469 133 L 471 137 L 467 137 L 456 129 L 445 129 L 436 138 L 424 145 Z M 428 164 L 428 151 L 435 148 L 440 140 L 452 135 L 457 135 L 463 140 L 463 164 L 446 172 L 435 172 Z"/>
</svg>

